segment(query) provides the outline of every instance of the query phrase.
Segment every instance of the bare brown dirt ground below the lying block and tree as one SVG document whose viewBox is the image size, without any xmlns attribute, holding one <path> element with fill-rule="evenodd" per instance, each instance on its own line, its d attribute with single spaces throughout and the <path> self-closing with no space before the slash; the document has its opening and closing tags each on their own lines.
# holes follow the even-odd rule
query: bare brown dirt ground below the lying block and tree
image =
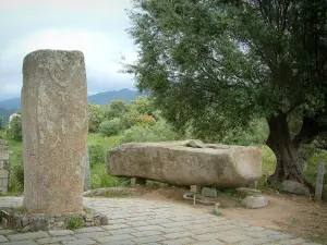
<svg viewBox="0 0 327 245">
<path fill-rule="evenodd" d="M 187 193 L 187 189 L 137 187 L 134 192 L 132 196 L 144 199 L 193 205 L 192 200 L 183 199 L 183 194 Z M 263 193 L 263 195 L 269 200 L 267 207 L 246 209 L 239 205 L 238 197 L 221 194 L 218 197 L 221 216 L 327 244 L 327 203 L 284 194 Z M 214 207 L 197 204 L 195 209 L 213 211 Z"/>
</svg>

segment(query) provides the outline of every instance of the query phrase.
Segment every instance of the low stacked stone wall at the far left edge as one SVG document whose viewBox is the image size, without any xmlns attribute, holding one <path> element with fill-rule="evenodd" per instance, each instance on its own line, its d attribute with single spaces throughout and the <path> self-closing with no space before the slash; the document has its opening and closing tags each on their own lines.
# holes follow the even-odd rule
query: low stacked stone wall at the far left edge
<svg viewBox="0 0 327 245">
<path fill-rule="evenodd" d="M 7 142 L 0 139 L 0 193 L 8 193 L 9 150 Z"/>
</svg>

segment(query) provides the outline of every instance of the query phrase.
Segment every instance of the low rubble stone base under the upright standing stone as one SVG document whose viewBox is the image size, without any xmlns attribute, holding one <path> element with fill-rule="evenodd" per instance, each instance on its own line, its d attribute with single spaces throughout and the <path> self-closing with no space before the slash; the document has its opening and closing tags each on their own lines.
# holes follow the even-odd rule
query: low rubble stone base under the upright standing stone
<svg viewBox="0 0 327 245">
<path fill-rule="evenodd" d="M 81 222 L 81 226 L 107 225 L 108 218 L 93 211 L 69 215 L 26 213 L 17 208 L 0 210 L 4 229 L 22 232 L 48 231 L 70 229 L 70 222 Z M 73 221 L 74 220 L 74 221 Z"/>
</svg>

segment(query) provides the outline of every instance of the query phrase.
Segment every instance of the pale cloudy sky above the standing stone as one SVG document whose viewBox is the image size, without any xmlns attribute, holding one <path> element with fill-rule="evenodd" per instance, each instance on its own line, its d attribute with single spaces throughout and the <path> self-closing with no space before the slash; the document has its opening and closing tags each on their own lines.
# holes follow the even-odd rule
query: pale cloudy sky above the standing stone
<svg viewBox="0 0 327 245">
<path fill-rule="evenodd" d="M 0 101 L 20 96 L 23 59 L 38 49 L 81 50 L 89 95 L 133 89 L 120 72 L 136 59 L 126 9 L 130 0 L 0 0 Z"/>
</svg>

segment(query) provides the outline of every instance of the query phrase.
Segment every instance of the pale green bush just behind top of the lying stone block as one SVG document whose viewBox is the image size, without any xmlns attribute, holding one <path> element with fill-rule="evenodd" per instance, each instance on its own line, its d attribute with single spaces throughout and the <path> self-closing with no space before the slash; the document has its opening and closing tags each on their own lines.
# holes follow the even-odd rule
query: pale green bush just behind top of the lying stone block
<svg viewBox="0 0 327 245">
<path fill-rule="evenodd" d="M 132 126 L 131 128 L 123 132 L 119 142 L 169 142 L 174 140 L 175 134 L 171 126 L 165 121 L 157 122 L 154 126 Z"/>
</svg>

